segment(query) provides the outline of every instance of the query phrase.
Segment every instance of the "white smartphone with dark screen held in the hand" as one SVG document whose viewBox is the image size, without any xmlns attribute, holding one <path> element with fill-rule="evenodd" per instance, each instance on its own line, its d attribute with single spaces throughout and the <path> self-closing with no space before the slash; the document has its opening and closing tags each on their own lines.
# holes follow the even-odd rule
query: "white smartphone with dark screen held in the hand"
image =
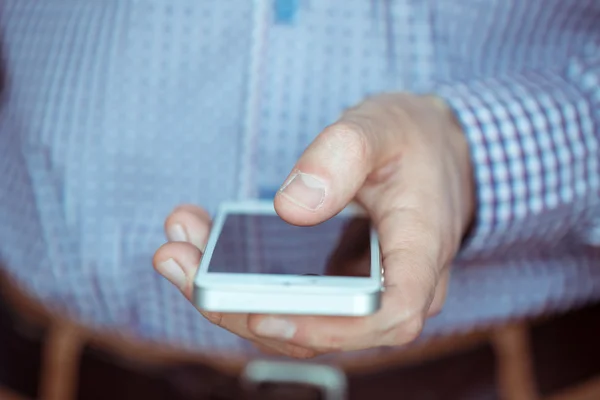
<svg viewBox="0 0 600 400">
<path fill-rule="evenodd" d="M 379 241 L 362 209 L 319 225 L 283 221 L 270 201 L 223 204 L 194 280 L 206 311 L 361 316 L 380 306 Z"/>
</svg>

